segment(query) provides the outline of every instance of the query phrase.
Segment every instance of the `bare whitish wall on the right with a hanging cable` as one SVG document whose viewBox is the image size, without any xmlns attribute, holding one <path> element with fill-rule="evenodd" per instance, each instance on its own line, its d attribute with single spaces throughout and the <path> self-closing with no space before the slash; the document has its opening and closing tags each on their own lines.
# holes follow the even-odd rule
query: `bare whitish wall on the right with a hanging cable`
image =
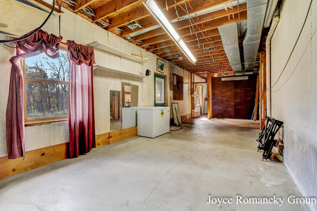
<svg viewBox="0 0 317 211">
<path fill-rule="evenodd" d="M 317 197 L 317 0 L 310 2 L 282 2 L 271 41 L 271 105 L 284 122 L 285 165 L 304 196 Z"/>
</svg>

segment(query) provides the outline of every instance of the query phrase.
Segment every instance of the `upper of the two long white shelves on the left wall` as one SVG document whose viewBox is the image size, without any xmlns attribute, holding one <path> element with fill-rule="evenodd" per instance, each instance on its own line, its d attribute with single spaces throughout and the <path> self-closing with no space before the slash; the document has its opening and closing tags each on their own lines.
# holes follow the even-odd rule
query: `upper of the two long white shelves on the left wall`
<svg viewBox="0 0 317 211">
<path fill-rule="evenodd" d="M 121 50 L 118 50 L 114 47 L 111 47 L 111 46 L 106 45 L 106 44 L 101 43 L 101 42 L 95 41 L 95 42 L 88 43 L 88 45 L 90 47 L 98 48 L 98 49 L 104 50 L 106 52 L 112 53 L 114 55 L 120 56 L 121 58 L 126 58 L 126 59 L 136 61 L 139 63 L 149 62 L 149 58 L 147 56 L 141 56 L 141 55 L 137 55 L 137 54 L 129 54 L 129 53 L 123 52 Z"/>
</svg>

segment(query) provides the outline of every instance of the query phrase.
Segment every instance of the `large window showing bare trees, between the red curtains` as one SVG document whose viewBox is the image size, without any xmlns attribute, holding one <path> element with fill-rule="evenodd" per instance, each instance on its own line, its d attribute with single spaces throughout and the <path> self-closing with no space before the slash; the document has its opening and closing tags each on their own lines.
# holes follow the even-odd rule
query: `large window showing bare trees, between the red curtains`
<svg viewBox="0 0 317 211">
<path fill-rule="evenodd" d="M 25 124 L 68 120 L 69 60 L 66 46 L 59 57 L 45 53 L 24 59 Z"/>
</svg>

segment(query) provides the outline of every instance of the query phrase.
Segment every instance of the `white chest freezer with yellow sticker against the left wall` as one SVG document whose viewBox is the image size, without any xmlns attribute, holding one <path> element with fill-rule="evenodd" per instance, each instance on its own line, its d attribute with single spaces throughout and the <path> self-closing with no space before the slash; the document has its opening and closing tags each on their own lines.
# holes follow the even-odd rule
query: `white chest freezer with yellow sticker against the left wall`
<svg viewBox="0 0 317 211">
<path fill-rule="evenodd" d="M 137 135 L 155 138 L 169 132 L 169 107 L 137 108 Z"/>
</svg>

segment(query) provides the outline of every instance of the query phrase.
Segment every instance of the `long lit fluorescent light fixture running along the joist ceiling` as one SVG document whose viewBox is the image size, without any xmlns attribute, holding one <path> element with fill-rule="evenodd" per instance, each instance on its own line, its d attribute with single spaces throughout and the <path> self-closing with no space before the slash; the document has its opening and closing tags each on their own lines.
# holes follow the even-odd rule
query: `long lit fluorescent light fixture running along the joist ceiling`
<svg viewBox="0 0 317 211">
<path fill-rule="evenodd" d="M 157 19 L 161 27 L 166 31 L 166 33 L 171 37 L 171 39 L 177 44 L 177 46 L 183 51 L 189 61 L 193 64 L 197 61 L 193 53 L 187 47 L 186 43 L 182 40 L 176 29 L 173 27 L 171 22 L 166 17 L 163 10 L 159 7 L 156 0 L 141 0 L 142 3 L 147 7 L 147 9 L 152 13 L 152 15 Z"/>
</svg>

